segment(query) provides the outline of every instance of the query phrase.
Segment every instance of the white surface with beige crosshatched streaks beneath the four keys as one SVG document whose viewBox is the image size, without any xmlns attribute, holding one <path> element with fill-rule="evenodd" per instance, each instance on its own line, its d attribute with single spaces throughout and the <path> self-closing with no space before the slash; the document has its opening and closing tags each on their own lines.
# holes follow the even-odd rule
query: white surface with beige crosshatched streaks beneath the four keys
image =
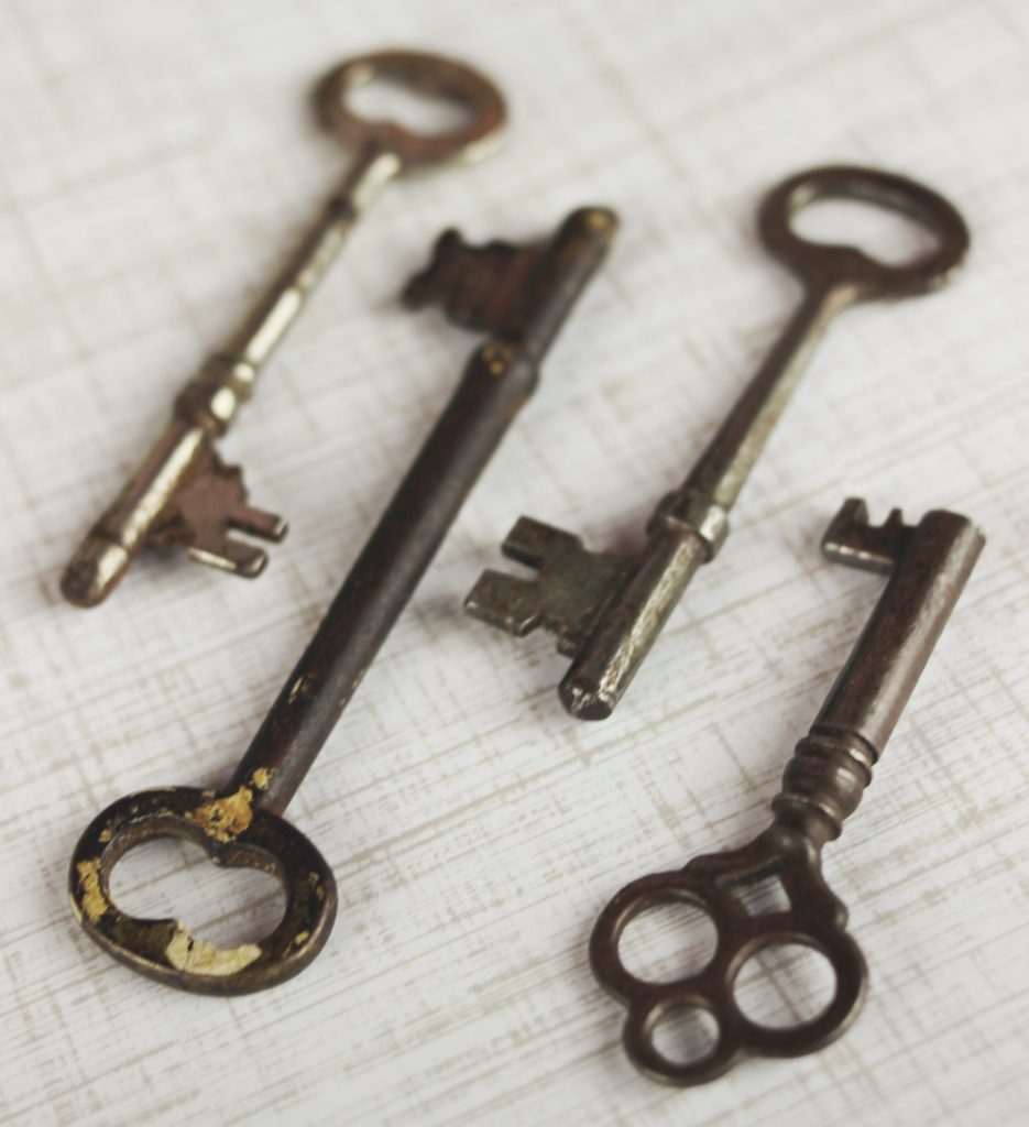
<svg viewBox="0 0 1029 1127">
<path fill-rule="evenodd" d="M 389 189 L 225 443 L 290 539 L 258 583 L 148 560 L 64 605 L 78 538 L 344 166 L 312 81 L 393 44 L 493 74 L 509 143 Z M 1024 1122 L 1027 137 L 1024 0 L 3 0 L 0 1120 Z M 761 194 L 832 160 L 946 193 L 967 273 L 832 328 L 622 709 L 573 721 L 551 640 L 460 600 L 520 513 L 638 533 L 796 301 Z M 233 1001 L 116 966 L 68 909 L 79 832 L 224 778 L 472 346 L 399 311 L 403 279 L 450 223 L 533 237 L 584 202 L 622 214 L 611 261 L 291 808 L 339 881 L 328 948 Z M 621 1054 L 589 929 L 763 824 L 880 588 L 817 552 L 852 494 L 988 536 L 827 852 L 868 1004 L 824 1053 L 665 1090 Z M 187 860 L 150 846 L 116 890 L 223 941 L 274 919 L 263 878 Z"/>
</svg>

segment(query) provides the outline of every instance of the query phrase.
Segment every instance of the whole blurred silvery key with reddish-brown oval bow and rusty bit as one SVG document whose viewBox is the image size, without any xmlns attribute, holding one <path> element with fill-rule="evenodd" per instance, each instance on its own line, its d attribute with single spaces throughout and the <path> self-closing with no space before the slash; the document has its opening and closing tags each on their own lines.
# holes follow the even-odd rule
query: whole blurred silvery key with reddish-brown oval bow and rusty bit
<svg viewBox="0 0 1029 1127">
<path fill-rule="evenodd" d="M 453 101 L 465 121 L 435 134 L 365 121 L 347 98 L 375 78 Z M 343 63 L 320 85 L 318 104 L 327 127 L 354 150 L 346 178 L 236 334 L 186 384 L 171 423 L 76 552 L 61 591 L 77 606 L 103 602 L 147 545 L 178 543 L 202 564 L 250 578 L 260 574 L 266 553 L 231 533 L 277 541 L 286 523 L 247 503 L 240 470 L 223 464 L 214 440 L 250 398 L 261 367 L 381 188 L 407 171 L 478 159 L 496 145 L 506 117 L 504 99 L 481 74 L 411 51 Z"/>
</svg>

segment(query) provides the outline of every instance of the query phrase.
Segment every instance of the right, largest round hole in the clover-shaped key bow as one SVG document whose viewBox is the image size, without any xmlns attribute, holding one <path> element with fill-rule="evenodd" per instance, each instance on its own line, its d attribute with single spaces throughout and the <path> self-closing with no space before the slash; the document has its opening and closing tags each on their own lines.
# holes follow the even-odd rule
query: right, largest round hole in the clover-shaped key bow
<svg viewBox="0 0 1029 1127">
<path fill-rule="evenodd" d="M 766 1029 L 789 1029 L 820 1018 L 836 995 L 836 971 L 802 943 L 770 943 L 739 969 L 733 994 L 744 1017 Z"/>
</svg>

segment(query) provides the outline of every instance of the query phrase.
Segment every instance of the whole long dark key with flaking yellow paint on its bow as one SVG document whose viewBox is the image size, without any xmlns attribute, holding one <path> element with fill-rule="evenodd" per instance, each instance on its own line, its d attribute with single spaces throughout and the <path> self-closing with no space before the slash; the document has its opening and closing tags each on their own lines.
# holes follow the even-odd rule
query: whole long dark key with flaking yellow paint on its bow
<svg viewBox="0 0 1029 1127">
<path fill-rule="evenodd" d="M 534 389 L 543 354 L 604 257 L 616 219 L 569 215 L 549 245 L 476 249 L 453 232 L 409 285 L 417 308 L 442 304 L 488 339 L 408 470 L 229 783 L 145 790 L 82 834 L 70 868 L 87 933 L 135 970 L 184 990 L 243 994 L 283 982 L 322 949 L 336 915 L 332 873 L 283 813 L 436 552 L 465 496 Z M 270 935 L 218 948 L 177 920 L 140 920 L 110 897 L 109 875 L 140 842 L 178 836 L 212 861 L 274 873 L 286 911 Z"/>
</svg>

